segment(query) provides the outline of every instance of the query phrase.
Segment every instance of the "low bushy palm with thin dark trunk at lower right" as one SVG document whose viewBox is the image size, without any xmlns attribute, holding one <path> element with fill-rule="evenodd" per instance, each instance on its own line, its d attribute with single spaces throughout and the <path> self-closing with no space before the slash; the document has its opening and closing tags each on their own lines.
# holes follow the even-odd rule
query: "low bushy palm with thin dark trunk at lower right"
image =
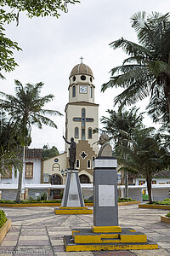
<svg viewBox="0 0 170 256">
<path fill-rule="evenodd" d="M 152 203 L 151 180 L 153 175 L 170 165 L 170 158 L 167 158 L 169 152 L 161 143 L 161 134 L 156 134 L 154 131 L 153 127 L 133 129 L 132 134 L 127 134 L 127 138 L 123 139 L 127 142 L 127 146 L 122 143 L 116 148 L 120 156 L 119 161 L 124 168 L 128 172 L 138 172 L 146 179 L 149 203 Z M 127 159 L 121 157 L 121 153 L 126 153 Z"/>
</svg>

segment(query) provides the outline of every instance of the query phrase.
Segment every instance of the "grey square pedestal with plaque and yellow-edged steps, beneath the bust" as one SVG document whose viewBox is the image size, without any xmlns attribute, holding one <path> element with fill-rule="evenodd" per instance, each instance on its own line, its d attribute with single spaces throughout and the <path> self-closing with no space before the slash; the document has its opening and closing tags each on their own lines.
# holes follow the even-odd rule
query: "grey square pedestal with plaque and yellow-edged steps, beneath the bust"
<svg viewBox="0 0 170 256">
<path fill-rule="evenodd" d="M 66 252 L 158 249 L 143 233 L 118 226 L 116 165 L 114 157 L 94 160 L 94 225 L 64 236 Z"/>
</svg>

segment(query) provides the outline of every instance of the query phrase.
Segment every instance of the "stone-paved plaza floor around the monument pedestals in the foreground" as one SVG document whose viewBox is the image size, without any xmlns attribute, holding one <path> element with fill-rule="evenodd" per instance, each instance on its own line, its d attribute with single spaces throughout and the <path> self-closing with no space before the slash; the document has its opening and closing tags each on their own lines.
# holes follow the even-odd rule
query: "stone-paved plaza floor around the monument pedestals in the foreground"
<svg viewBox="0 0 170 256">
<path fill-rule="evenodd" d="M 119 225 L 143 232 L 150 241 L 158 243 L 158 250 L 65 253 L 63 236 L 71 235 L 71 229 L 74 228 L 91 227 L 93 214 L 57 216 L 54 207 L 1 209 L 12 219 L 12 227 L 0 245 L 0 256 L 170 255 L 170 225 L 160 222 L 161 215 L 168 212 L 166 210 L 139 209 L 138 205 L 119 207 Z"/>
</svg>

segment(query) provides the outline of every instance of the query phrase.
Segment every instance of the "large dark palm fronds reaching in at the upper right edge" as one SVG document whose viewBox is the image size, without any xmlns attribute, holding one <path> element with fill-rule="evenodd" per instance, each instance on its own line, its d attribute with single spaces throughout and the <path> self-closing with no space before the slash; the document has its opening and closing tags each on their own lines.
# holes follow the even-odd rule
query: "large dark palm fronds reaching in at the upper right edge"
<svg viewBox="0 0 170 256">
<path fill-rule="evenodd" d="M 154 122 L 170 122 L 170 15 L 139 12 L 132 16 L 139 44 L 120 38 L 110 45 L 122 48 L 129 57 L 111 69 L 111 79 L 102 85 L 122 87 L 114 102 L 131 105 L 150 96 L 147 107 Z"/>
</svg>

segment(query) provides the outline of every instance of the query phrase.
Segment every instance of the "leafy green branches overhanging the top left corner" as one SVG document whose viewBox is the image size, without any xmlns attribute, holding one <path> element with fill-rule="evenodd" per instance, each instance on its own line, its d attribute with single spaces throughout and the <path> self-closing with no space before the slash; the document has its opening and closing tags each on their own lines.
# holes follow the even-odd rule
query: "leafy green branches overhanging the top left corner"
<svg viewBox="0 0 170 256">
<path fill-rule="evenodd" d="M 2 71 L 10 72 L 18 64 L 14 61 L 14 49 L 20 47 L 16 42 L 5 37 L 4 25 L 12 21 L 19 25 L 20 13 L 26 13 L 29 18 L 53 16 L 59 18 L 59 12 L 68 12 L 67 4 L 79 3 L 77 0 L 0 0 L 0 78 L 4 79 Z"/>
</svg>

